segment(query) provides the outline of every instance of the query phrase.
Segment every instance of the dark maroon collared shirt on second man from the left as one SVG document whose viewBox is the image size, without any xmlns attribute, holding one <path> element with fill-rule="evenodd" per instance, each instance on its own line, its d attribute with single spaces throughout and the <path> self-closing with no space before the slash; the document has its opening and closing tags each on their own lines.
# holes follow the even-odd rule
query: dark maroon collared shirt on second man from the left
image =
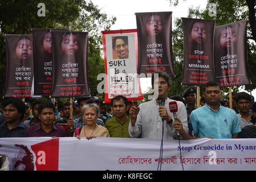
<svg viewBox="0 0 256 182">
<path fill-rule="evenodd" d="M 46 133 L 41 123 L 29 127 L 25 133 L 25 137 L 66 137 L 66 132 L 61 126 L 53 125 L 52 130 Z"/>
</svg>

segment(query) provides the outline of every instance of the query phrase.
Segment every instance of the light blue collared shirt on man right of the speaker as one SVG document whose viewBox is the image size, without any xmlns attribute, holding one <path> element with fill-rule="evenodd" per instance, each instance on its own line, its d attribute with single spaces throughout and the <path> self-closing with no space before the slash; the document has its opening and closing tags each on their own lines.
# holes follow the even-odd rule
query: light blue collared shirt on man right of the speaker
<svg viewBox="0 0 256 182">
<path fill-rule="evenodd" d="M 194 134 L 200 138 L 228 139 L 232 138 L 233 134 L 241 132 L 235 111 L 221 105 L 215 112 L 205 104 L 193 110 L 189 120 L 192 123 Z"/>
</svg>

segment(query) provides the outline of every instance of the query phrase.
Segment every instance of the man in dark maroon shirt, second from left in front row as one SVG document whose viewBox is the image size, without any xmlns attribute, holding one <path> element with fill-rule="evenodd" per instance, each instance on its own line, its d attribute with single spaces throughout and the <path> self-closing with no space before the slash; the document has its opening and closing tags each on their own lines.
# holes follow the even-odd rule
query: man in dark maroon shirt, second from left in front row
<svg viewBox="0 0 256 182">
<path fill-rule="evenodd" d="M 54 125 L 54 104 L 42 102 L 38 107 L 38 114 L 41 122 L 27 129 L 25 137 L 66 137 L 63 127 Z"/>
</svg>

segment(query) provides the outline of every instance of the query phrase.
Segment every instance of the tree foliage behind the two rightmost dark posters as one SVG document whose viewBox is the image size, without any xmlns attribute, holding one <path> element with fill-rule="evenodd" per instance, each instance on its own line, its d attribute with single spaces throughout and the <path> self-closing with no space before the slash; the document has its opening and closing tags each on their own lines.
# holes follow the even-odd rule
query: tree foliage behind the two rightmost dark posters
<svg viewBox="0 0 256 182">
<path fill-rule="evenodd" d="M 178 0 L 169 0 L 171 5 L 177 6 Z M 184 1 L 184 0 L 183 0 Z M 217 16 L 209 16 L 209 4 L 216 3 L 217 5 Z M 195 9 L 188 10 L 188 18 L 198 18 L 198 19 L 212 19 L 215 20 L 216 26 L 222 24 L 227 24 L 231 22 L 236 22 L 242 19 L 249 19 L 247 26 L 247 55 L 248 55 L 248 65 L 249 65 L 249 76 L 251 85 L 246 85 L 245 90 L 251 91 L 256 88 L 256 2 L 255 0 L 246 1 L 233 1 L 233 0 L 208 0 L 206 9 L 200 9 L 196 7 Z M 173 78 L 172 83 L 175 89 L 180 85 L 180 65 L 183 65 L 183 36 L 182 36 L 182 22 L 181 19 L 177 19 L 174 24 L 176 28 L 173 30 L 173 55 L 174 55 L 174 65 L 176 65 L 175 73 L 176 78 Z M 180 63 L 180 64 L 179 64 Z M 182 75 L 182 73 L 181 73 Z M 185 89 L 186 86 L 184 86 Z M 180 86 L 181 88 L 181 86 Z M 240 87 L 233 87 L 234 90 L 238 90 Z M 227 89 L 225 89 L 227 91 Z M 178 93 L 178 92 L 177 92 Z"/>
</svg>

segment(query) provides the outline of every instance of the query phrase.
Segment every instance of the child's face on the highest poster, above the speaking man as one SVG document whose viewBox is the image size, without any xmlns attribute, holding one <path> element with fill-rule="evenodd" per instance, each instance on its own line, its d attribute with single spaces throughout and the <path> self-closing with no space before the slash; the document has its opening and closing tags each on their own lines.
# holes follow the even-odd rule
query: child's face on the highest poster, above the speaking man
<svg viewBox="0 0 256 182">
<path fill-rule="evenodd" d="M 160 15 L 151 15 L 147 19 L 146 32 L 149 35 L 159 35 L 163 30 L 163 22 Z"/>
</svg>

